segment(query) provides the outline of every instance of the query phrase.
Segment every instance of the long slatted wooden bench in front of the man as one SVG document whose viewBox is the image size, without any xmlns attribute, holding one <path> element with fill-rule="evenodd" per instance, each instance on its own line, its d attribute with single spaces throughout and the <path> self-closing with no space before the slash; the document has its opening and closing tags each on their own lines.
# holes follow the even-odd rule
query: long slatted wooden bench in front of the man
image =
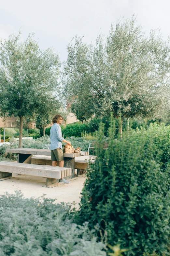
<svg viewBox="0 0 170 256">
<path fill-rule="evenodd" d="M 57 186 L 59 179 L 71 176 L 72 169 L 65 167 L 45 166 L 19 162 L 0 162 L 0 180 L 12 178 L 12 173 L 25 174 L 46 178 L 46 186 Z"/>
</svg>

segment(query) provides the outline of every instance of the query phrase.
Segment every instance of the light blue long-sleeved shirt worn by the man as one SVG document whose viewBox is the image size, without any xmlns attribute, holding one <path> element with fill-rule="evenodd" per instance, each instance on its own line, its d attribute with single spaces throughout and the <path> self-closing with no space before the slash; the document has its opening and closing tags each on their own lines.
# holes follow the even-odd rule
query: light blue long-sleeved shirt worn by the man
<svg viewBox="0 0 170 256">
<path fill-rule="evenodd" d="M 50 150 L 54 150 L 56 148 L 62 148 L 62 141 L 64 138 L 62 137 L 61 127 L 55 123 L 50 129 Z"/>
</svg>

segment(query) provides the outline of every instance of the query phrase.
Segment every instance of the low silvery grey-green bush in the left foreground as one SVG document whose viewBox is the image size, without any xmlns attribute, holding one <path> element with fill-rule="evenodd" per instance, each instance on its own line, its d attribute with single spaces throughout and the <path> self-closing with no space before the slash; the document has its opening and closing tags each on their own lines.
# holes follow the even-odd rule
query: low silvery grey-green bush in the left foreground
<svg viewBox="0 0 170 256">
<path fill-rule="evenodd" d="M 1 256 L 104 256 L 87 223 L 74 223 L 69 204 L 53 199 L 23 199 L 17 192 L 0 197 Z"/>
</svg>

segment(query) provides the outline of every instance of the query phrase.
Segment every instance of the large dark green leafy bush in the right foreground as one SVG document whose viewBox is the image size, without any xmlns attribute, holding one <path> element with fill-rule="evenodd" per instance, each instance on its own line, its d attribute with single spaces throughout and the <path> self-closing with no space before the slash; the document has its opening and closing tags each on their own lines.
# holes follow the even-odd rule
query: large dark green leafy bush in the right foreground
<svg viewBox="0 0 170 256">
<path fill-rule="evenodd" d="M 108 243 L 128 248 L 127 255 L 162 255 L 170 232 L 170 127 L 155 124 L 115 140 L 111 122 L 108 150 L 102 149 L 103 133 L 101 125 L 79 220 L 91 228 L 99 223 Z"/>
</svg>

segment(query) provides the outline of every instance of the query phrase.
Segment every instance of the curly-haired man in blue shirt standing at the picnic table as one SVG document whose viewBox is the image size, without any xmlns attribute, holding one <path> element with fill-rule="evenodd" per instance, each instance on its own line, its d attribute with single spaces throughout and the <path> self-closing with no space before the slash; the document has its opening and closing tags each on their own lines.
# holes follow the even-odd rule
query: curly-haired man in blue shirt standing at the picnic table
<svg viewBox="0 0 170 256">
<path fill-rule="evenodd" d="M 63 123 L 63 117 L 56 114 L 53 119 L 53 126 L 50 129 L 50 150 L 51 150 L 51 160 L 52 166 L 56 166 L 59 162 L 60 167 L 64 167 L 64 155 L 62 148 L 62 141 L 71 145 L 70 142 L 64 140 L 62 137 L 62 131 L 60 125 Z M 59 183 L 68 184 L 70 181 L 66 179 L 59 179 Z"/>
</svg>

